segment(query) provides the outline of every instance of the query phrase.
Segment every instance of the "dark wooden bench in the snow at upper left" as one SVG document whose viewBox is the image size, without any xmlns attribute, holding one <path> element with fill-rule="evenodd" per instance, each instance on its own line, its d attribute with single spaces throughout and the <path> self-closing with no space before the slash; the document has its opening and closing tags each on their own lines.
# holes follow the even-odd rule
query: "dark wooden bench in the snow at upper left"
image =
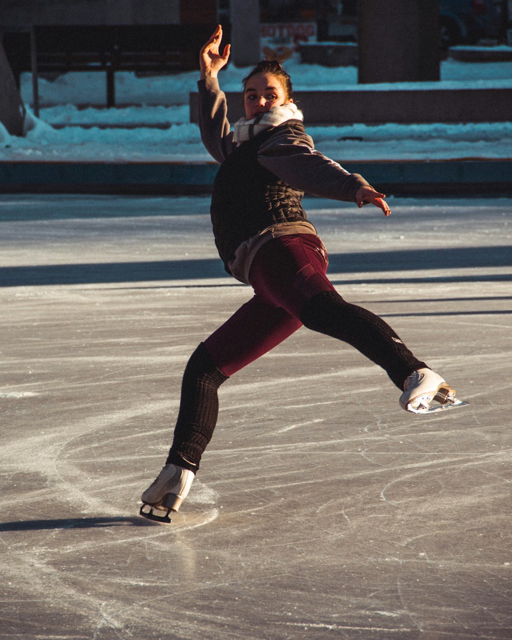
<svg viewBox="0 0 512 640">
<path fill-rule="evenodd" d="M 172 74 L 198 68 L 198 52 L 212 24 L 42 25 L 6 32 L 4 51 L 20 86 L 32 72 L 33 109 L 39 115 L 38 74 L 106 72 L 106 104 L 115 106 L 115 72 Z M 229 29 L 225 29 L 227 38 Z"/>
</svg>

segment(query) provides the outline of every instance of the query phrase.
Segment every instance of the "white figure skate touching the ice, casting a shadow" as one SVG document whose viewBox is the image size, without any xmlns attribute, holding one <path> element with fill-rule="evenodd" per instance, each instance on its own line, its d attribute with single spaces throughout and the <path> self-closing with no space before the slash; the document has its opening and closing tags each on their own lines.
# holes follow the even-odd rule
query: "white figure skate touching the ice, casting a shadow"
<svg viewBox="0 0 512 640">
<path fill-rule="evenodd" d="M 144 503 L 140 515 L 155 522 L 171 522 L 170 511 L 178 511 L 187 497 L 194 479 L 194 472 L 168 464 L 157 479 L 142 494 Z"/>
</svg>

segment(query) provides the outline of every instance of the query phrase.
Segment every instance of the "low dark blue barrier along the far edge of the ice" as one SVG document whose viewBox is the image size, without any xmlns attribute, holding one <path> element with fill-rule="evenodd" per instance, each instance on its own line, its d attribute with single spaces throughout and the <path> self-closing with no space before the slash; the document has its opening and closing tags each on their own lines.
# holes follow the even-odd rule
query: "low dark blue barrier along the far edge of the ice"
<svg viewBox="0 0 512 640">
<path fill-rule="evenodd" d="M 388 195 L 512 195 L 512 159 L 342 164 Z M 0 162 L 0 193 L 211 193 L 217 169 L 213 162 Z"/>
</svg>

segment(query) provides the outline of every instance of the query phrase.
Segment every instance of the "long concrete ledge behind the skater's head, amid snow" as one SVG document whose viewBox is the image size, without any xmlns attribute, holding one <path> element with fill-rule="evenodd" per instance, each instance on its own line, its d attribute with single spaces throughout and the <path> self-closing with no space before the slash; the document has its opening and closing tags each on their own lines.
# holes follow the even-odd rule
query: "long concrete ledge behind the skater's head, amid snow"
<svg viewBox="0 0 512 640">
<path fill-rule="evenodd" d="M 226 93 L 230 120 L 244 116 L 241 93 Z M 511 89 L 407 89 L 298 91 L 294 100 L 307 124 L 508 122 Z M 198 94 L 190 93 L 190 122 L 197 122 Z"/>
</svg>

